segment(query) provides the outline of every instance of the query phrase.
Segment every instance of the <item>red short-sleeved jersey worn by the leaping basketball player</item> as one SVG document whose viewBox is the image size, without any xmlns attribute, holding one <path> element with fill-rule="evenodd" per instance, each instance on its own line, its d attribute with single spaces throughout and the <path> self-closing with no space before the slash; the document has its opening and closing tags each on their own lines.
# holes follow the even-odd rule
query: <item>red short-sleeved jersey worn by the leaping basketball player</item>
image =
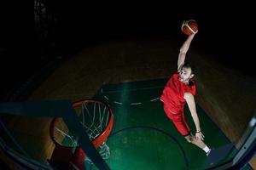
<svg viewBox="0 0 256 170">
<path fill-rule="evenodd" d="M 160 97 L 160 100 L 169 108 L 172 113 L 179 113 L 183 111 L 186 104 L 184 93 L 189 92 L 195 95 L 195 82 L 191 81 L 191 85 L 186 85 L 179 81 L 179 73 L 176 72 L 172 75 L 166 83 L 166 87 Z"/>
</svg>

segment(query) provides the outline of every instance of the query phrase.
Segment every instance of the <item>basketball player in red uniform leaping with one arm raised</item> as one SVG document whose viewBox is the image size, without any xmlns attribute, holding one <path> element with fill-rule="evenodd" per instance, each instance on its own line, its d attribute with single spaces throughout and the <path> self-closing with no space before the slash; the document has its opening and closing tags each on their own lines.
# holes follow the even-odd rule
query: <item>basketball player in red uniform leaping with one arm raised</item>
<svg viewBox="0 0 256 170">
<path fill-rule="evenodd" d="M 179 133 L 181 133 L 189 143 L 195 144 L 209 155 L 211 149 L 203 142 L 204 135 L 201 132 L 199 118 L 195 108 L 195 82 L 192 78 L 195 76 L 194 69 L 188 63 L 184 63 L 189 46 L 195 34 L 188 36 L 177 59 L 177 72 L 172 75 L 166 83 L 160 100 L 164 103 L 166 116 L 173 122 Z M 195 122 L 195 136 L 190 132 L 189 125 L 185 121 L 183 107 L 189 105 L 189 111 Z"/>
</svg>

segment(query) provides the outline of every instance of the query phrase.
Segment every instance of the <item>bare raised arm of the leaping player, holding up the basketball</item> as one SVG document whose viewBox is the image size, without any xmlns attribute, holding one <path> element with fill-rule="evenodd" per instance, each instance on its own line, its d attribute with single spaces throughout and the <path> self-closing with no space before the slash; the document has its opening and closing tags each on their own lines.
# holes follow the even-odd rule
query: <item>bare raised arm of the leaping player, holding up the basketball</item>
<svg viewBox="0 0 256 170">
<path fill-rule="evenodd" d="M 192 42 L 192 39 L 195 37 L 195 34 L 191 34 L 185 42 L 183 42 L 183 46 L 179 49 L 178 59 L 177 59 L 177 71 L 179 72 L 181 68 L 183 67 L 186 54 L 189 50 L 190 43 Z"/>
</svg>

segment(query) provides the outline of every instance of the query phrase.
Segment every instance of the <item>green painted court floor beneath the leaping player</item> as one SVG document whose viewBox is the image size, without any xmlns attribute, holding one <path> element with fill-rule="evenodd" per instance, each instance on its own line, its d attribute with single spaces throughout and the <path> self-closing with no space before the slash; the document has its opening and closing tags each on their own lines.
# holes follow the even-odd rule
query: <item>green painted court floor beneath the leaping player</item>
<svg viewBox="0 0 256 170">
<path fill-rule="evenodd" d="M 94 96 L 94 99 L 105 101 L 113 109 L 113 130 L 107 140 L 110 157 L 105 160 L 111 169 L 206 169 L 229 161 L 234 155 L 231 151 L 217 163 L 204 164 L 207 160 L 205 152 L 189 144 L 163 111 L 159 98 L 166 82 L 166 78 L 161 78 L 107 84 Z M 199 105 L 196 109 L 205 143 L 211 148 L 230 144 L 207 113 Z M 195 124 L 187 105 L 184 112 L 192 133 L 195 133 Z M 90 169 L 96 167 L 91 166 Z"/>
</svg>

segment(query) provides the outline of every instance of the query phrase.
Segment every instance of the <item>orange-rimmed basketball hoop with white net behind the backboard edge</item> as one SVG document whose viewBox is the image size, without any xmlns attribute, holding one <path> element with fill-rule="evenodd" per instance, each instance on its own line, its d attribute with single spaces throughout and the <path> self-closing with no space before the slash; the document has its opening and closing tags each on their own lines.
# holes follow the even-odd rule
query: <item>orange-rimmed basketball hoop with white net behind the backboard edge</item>
<svg viewBox="0 0 256 170">
<path fill-rule="evenodd" d="M 113 111 L 107 104 L 96 99 L 76 101 L 73 103 L 73 109 L 79 116 L 80 123 L 86 129 L 86 133 L 92 144 L 103 159 L 108 159 L 110 151 L 106 144 L 106 139 L 113 128 Z M 72 154 L 69 155 L 73 156 L 78 155 L 76 154 L 77 151 L 79 151 L 79 155 L 84 155 L 84 153 L 81 153 L 81 148 L 78 144 L 79 137 L 69 132 L 67 125 L 61 118 L 54 118 L 52 120 L 49 127 L 49 133 L 50 138 L 55 144 L 55 149 L 69 150 L 66 152 L 72 152 Z M 61 159 L 61 154 L 57 154 L 58 156 L 56 156 L 55 152 L 56 151 L 54 150 L 54 153 L 51 156 L 51 161 L 59 161 Z M 79 159 L 81 159 L 81 157 Z M 85 155 L 83 160 L 81 160 L 83 162 L 79 162 L 79 164 L 84 164 L 84 159 Z"/>
</svg>

